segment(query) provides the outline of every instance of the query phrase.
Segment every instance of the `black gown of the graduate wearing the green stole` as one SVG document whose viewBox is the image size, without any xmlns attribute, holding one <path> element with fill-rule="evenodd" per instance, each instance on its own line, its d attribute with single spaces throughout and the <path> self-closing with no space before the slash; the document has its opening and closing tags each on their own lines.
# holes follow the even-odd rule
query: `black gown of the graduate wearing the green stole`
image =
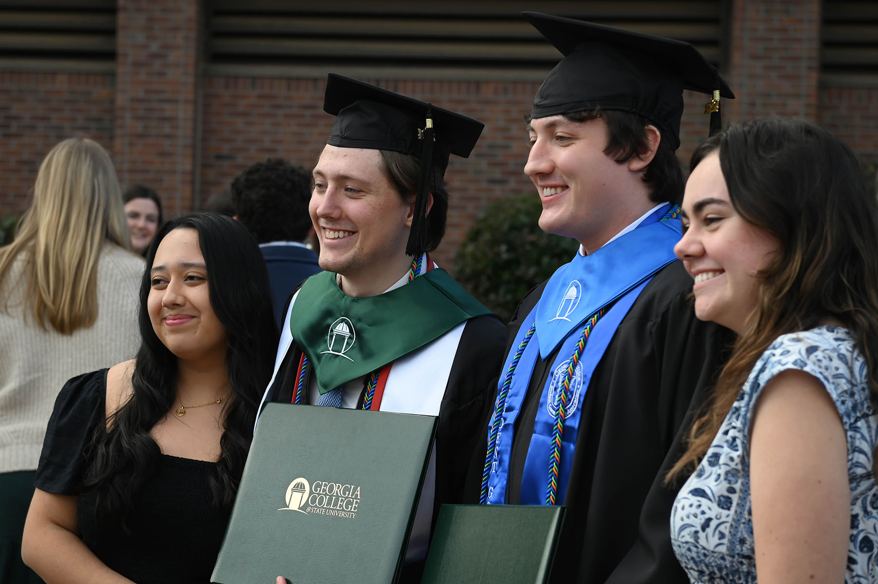
<svg viewBox="0 0 878 584">
<path fill-rule="evenodd" d="M 493 314 L 488 314 L 466 321 L 457 343 L 439 406 L 432 526 L 435 526 L 443 503 L 470 502 L 464 501 L 464 479 L 471 453 L 481 447 L 479 431 L 487 409 L 493 405 L 494 386 L 491 379 L 502 365 L 505 338 L 503 323 Z M 268 400 L 290 402 L 301 354 L 302 350 L 293 342 L 277 370 L 275 382 L 268 390 Z M 412 389 L 417 391 L 416 387 Z M 399 581 L 421 581 L 423 564 L 421 560 L 404 566 Z"/>
</svg>

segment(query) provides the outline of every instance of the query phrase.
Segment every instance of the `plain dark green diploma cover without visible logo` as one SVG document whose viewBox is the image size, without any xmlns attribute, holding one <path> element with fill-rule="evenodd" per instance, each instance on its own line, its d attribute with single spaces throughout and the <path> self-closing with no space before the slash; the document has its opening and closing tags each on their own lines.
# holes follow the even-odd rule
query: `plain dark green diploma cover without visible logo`
<svg viewBox="0 0 878 584">
<path fill-rule="evenodd" d="M 544 584 L 565 508 L 443 505 L 421 584 Z"/>
</svg>

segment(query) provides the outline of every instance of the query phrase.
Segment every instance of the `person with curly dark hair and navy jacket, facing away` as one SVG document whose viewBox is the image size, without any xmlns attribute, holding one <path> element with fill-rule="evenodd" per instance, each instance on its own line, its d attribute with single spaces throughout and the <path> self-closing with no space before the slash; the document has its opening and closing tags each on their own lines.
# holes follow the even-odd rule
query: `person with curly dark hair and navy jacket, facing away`
<svg viewBox="0 0 878 584">
<path fill-rule="evenodd" d="M 311 175 L 281 158 L 256 162 L 232 181 L 235 219 L 259 243 L 269 270 L 277 326 L 284 306 L 302 280 L 320 271 L 308 238 L 313 234 L 308 201 Z"/>
</svg>

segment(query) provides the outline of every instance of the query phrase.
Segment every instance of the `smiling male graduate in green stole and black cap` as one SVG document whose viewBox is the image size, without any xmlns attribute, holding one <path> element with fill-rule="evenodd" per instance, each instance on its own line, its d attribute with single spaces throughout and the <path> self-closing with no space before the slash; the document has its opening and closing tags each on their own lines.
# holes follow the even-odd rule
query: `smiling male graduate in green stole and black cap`
<svg viewBox="0 0 878 584">
<path fill-rule="evenodd" d="M 428 256 L 449 155 L 468 156 L 483 125 L 334 74 L 323 109 L 336 118 L 309 212 L 326 271 L 291 299 L 264 399 L 439 416 L 403 571 L 419 581 L 439 506 L 461 501 L 506 336 Z"/>
</svg>

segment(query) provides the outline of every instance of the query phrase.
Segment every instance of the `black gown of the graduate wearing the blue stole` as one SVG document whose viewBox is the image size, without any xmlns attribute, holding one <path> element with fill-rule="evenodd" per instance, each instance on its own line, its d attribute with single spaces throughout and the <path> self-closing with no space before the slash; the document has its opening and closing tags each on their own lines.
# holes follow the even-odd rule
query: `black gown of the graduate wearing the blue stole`
<svg viewBox="0 0 878 584">
<path fill-rule="evenodd" d="M 543 292 L 539 285 L 508 325 L 507 351 Z M 716 380 L 731 334 L 695 318 L 692 278 L 675 261 L 660 270 L 631 306 L 594 370 L 585 400 L 564 504 L 565 527 L 552 582 L 688 584 L 673 555 L 666 471 L 680 458 L 683 435 Z M 529 325 L 530 323 L 526 323 Z M 552 353 L 537 358 L 515 422 L 507 503 L 520 503 L 522 472 Z M 494 386 L 496 388 L 496 385 Z M 482 443 L 487 443 L 486 429 Z M 471 467 L 470 498 L 480 485 L 485 448 Z M 548 461 L 546 462 L 548 471 Z M 474 476 L 474 475 L 478 476 Z"/>
</svg>

